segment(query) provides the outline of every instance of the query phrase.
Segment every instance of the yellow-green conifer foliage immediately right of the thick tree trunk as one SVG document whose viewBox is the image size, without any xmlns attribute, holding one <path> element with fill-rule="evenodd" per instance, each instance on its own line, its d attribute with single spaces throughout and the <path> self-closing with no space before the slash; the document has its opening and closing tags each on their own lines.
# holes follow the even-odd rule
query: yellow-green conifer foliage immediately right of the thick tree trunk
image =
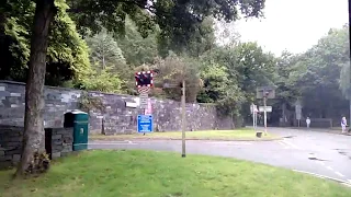
<svg viewBox="0 0 351 197">
<path fill-rule="evenodd" d="M 67 80 L 78 83 L 90 69 L 89 48 L 66 13 L 68 7 L 65 0 L 56 0 L 56 7 L 58 12 L 52 24 L 47 49 L 46 84 L 60 85 Z"/>
</svg>

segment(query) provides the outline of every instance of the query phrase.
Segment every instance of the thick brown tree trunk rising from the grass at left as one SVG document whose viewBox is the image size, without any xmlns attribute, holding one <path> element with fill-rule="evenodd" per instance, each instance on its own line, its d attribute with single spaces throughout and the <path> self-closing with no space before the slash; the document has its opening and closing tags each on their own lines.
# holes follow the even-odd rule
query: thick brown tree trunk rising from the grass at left
<svg viewBox="0 0 351 197">
<path fill-rule="evenodd" d="M 44 83 L 48 33 L 56 8 L 54 0 L 36 0 L 31 38 L 31 56 L 25 86 L 24 135 L 21 162 L 16 176 L 23 176 L 33 167 L 35 154 L 45 153 Z"/>
</svg>

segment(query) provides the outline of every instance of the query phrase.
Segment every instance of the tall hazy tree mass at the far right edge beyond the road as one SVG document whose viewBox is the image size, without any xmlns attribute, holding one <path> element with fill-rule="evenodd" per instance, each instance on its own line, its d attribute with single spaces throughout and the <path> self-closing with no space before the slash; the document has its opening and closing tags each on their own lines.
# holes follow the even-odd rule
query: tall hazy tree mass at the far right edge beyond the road
<svg viewBox="0 0 351 197">
<path fill-rule="evenodd" d="M 348 102 L 342 95 L 348 90 L 349 65 L 348 26 L 330 30 L 317 45 L 301 55 L 293 66 L 291 80 L 299 88 L 304 113 L 312 117 L 336 117 L 348 114 Z M 342 71 L 343 70 L 343 71 Z M 350 74 L 350 73 L 349 73 Z"/>
</svg>

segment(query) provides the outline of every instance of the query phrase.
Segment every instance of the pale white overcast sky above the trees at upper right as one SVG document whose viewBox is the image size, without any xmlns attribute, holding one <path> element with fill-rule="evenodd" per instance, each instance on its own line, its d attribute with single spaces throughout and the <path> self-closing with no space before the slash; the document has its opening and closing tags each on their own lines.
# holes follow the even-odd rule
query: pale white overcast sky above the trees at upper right
<svg viewBox="0 0 351 197">
<path fill-rule="evenodd" d="M 331 27 L 348 23 L 348 0 L 265 0 L 264 18 L 237 22 L 241 40 L 278 56 L 284 49 L 304 53 Z"/>
</svg>

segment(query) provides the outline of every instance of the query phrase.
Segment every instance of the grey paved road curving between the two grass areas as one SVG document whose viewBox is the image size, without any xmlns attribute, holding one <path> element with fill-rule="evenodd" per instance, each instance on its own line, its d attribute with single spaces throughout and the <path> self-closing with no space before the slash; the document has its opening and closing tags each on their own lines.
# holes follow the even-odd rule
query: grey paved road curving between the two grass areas
<svg viewBox="0 0 351 197">
<path fill-rule="evenodd" d="M 186 141 L 186 153 L 237 158 L 314 173 L 351 184 L 351 137 L 270 128 L 278 141 Z M 144 149 L 181 152 L 179 140 L 89 141 L 89 149 Z"/>
</svg>

